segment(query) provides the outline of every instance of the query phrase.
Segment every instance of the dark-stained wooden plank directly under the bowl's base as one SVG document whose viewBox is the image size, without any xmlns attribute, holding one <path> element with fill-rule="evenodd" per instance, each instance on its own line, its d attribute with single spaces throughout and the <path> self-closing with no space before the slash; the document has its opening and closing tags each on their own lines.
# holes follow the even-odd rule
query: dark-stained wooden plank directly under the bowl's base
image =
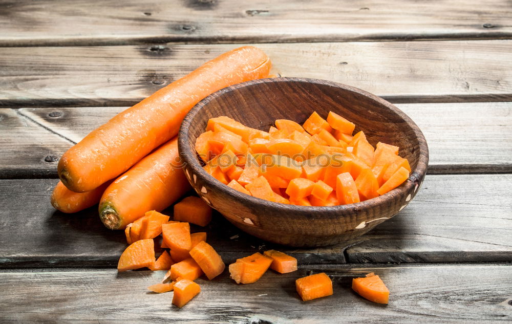
<svg viewBox="0 0 512 324">
<path fill-rule="evenodd" d="M 116 266 L 126 247 L 95 207 L 63 214 L 50 205 L 56 180 L 0 180 L 0 265 Z M 275 246 L 240 232 L 216 215 L 207 241 L 228 263 L 258 250 L 279 249 L 303 264 L 365 262 L 480 262 L 512 260 L 512 175 L 430 175 L 396 217 L 373 231 L 325 248 Z M 164 211 L 172 213 L 172 210 Z M 27 230 L 30 228 L 30 230 Z M 347 246 L 350 246 L 347 250 Z"/>
</svg>

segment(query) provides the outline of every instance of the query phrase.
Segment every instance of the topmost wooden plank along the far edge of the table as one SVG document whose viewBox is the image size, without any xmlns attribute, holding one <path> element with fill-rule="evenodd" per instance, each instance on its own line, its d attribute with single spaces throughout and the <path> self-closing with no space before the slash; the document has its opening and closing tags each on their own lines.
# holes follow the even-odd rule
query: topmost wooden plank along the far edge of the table
<svg viewBox="0 0 512 324">
<path fill-rule="evenodd" d="M 0 46 L 509 38 L 511 13 L 505 0 L 17 0 Z"/>
</svg>

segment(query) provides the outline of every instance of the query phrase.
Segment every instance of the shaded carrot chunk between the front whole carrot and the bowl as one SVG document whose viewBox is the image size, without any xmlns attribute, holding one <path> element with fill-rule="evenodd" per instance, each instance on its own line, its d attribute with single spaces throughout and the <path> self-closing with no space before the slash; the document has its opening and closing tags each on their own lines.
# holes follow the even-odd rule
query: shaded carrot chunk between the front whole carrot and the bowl
<svg viewBox="0 0 512 324">
<path fill-rule="evenodd" d="M 211 221 L 211 207 L 199 197 L 190 196 L 174 205 L 174 220 L 206 226 Z"/>
</svg>

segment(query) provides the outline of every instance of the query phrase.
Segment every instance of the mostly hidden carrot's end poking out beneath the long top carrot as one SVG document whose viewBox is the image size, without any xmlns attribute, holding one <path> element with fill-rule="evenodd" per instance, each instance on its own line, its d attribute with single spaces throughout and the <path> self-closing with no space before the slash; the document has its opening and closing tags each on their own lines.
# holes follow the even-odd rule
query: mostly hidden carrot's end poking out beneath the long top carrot
<svg viewBox="0 0 512 324">
<path fill-rule="evenodd" d="M 87 192 L 74 192 L 59 181 L 53 189 L 50 201 L 55 209 L 65 213 L 78 212 L 96 205 L 111 181 Z"/>
</svg>

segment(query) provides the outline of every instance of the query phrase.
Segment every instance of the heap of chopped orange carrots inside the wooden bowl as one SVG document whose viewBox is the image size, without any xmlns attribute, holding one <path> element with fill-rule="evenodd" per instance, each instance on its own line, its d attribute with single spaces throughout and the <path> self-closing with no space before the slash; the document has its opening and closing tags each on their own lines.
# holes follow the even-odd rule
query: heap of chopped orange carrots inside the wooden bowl
<svg viewBox="0 0 512 324">
<path fill-rule="evenodd" d="M 365 133 L 330 112 L 314 112 L 302 125 L 275 121 L 268 132 L 229 117 L 210 118 L 196 151 L 212 177 L 253 197 L 301 206 L 335 206 L 383 195 L 409 177 L 399 147 Z"/>
</svg>

